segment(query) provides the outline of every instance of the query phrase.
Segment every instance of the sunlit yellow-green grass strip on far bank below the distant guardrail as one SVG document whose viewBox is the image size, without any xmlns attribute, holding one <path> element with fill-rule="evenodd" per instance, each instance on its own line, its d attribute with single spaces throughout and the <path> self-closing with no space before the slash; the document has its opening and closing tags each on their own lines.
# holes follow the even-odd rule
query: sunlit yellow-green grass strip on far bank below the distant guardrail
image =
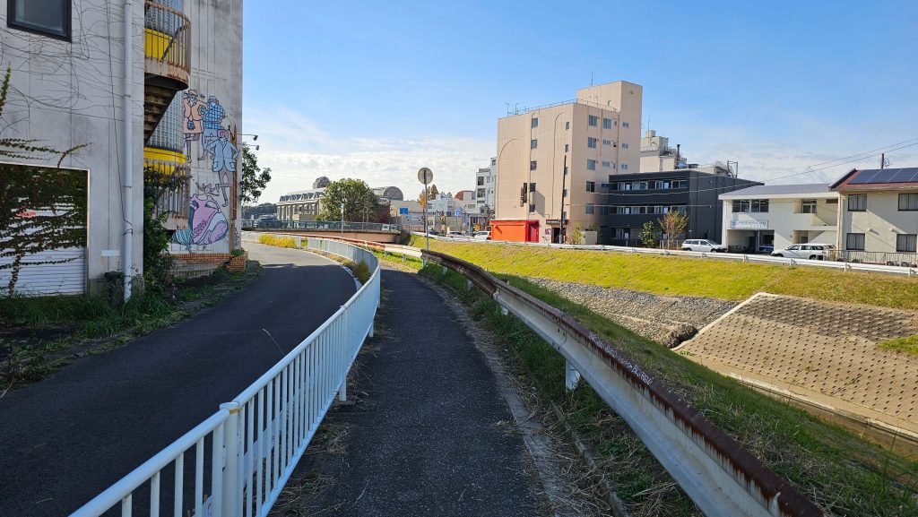
<svg viewBox="0 0 918 517">
<path fill-rule="evenodd" d="M 412 236 L 411 245 L 423 245 Z M 662 295 L 744 300 L 757 292 L 918 310 L 918 279 L 820 267 L 743 264 L 643 253 L 443 242 L 449 253 L 492 273 L 532 276 Z"/>
</svg>

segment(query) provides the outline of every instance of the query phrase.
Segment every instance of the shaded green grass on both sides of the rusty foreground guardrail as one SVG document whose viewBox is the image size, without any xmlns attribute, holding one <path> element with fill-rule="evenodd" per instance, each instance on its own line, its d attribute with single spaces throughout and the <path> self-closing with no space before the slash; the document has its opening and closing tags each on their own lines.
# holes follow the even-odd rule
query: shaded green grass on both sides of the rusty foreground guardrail
<svg viewBox="0 0 918 517">
<path fill-rule="evenodd" d="M 526 375 L 531 376 L 540 398 L 561 406 L 568 422 L 609 462 L 604 474 L 612 478 L 633 515 L 699 514 L 644 444 L 591 388 L 582 384 L 573 394 L 565 392 L 565 361 L 551 346 L 520 320 L 502 316 L 497 304 L 482 292 L 466 289 L 464 277 L 453 272 L 441 275 L 436 265 L 425 273 L 452 287 L 472 306 L 475 317 L 487 321 L 501 342 L 512 347 L 530 372 Z M 918 462 L 744 388 L 547 289 L 519 277 L 503 277 L 564 310 L 630 354 L 645 371 L 676 391 L 827 514 L 918 515 L 918 498 L 910 488 L 918 481 Z"/>
</svg>

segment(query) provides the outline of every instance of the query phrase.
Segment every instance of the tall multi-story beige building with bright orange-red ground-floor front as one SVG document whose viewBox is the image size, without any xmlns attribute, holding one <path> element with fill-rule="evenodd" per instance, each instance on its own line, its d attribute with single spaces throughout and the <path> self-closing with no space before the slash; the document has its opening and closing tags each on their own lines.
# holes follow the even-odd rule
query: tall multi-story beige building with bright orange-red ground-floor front
<svg viewBox="0 0 918 517">
<path fill-rule="evenodd" d="M 492 238 L 562 242 L 577 225 L 599 230 L 601 185 L 640 170 L 642 96 L 616 81 L 500 118 Z"/>
</svg>

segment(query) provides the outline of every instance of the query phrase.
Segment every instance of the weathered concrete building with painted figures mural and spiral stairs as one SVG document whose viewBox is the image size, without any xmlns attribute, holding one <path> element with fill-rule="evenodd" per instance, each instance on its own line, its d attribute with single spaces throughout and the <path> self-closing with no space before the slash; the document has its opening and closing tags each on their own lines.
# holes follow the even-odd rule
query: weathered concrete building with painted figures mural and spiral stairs
<svg viewBox="0 0 918 517">
<path fill-rule="evenodd" d="M 106 272 L 139 278 L 145 168 L 148 181 L 174 184 L 157 204 L 172 252 L 239 246 L 241 0 L 132 6 L 0 0 L 0 55 L 13 70 L 4 136 L 86 145 L 62 163 L 86 171 L 84 247 L 66 268 L 31 266 L 21 292 L 95 292 Z"/>
</svg>

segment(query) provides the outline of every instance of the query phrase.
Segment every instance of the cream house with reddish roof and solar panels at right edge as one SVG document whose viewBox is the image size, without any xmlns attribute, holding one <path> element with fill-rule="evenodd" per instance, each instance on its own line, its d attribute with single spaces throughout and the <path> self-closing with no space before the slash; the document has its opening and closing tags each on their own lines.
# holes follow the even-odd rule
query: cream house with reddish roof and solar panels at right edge
<svg viewBox="0 0 918 517">
<path fill-rule="evenodd" d="M 918 264 L 918 167 L 854 169 L 839 195 L 837 247 L 848 260 Z"/>
</svg>

